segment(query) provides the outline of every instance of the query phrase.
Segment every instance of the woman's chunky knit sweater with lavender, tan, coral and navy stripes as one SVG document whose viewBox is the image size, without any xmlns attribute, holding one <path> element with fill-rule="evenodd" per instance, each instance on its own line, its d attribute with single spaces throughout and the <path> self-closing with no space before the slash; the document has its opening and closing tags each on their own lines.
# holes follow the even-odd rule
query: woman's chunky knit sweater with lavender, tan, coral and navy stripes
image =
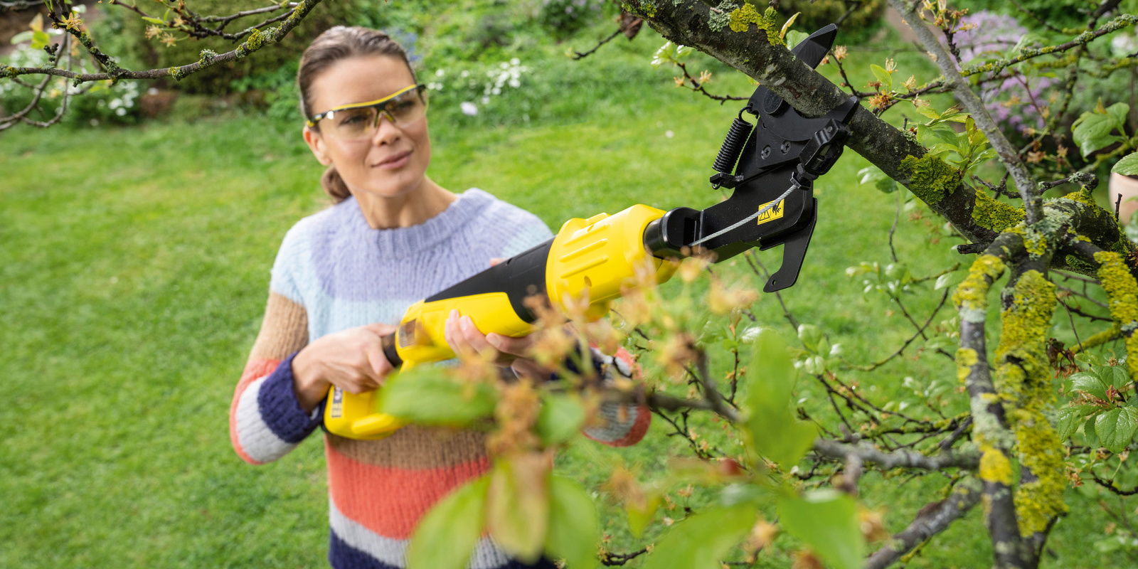
<svg viewBox="0 0 1138 569">
<path fill-rule="evenodd" d="M 292 356 L 305 345 L 348 328 L 396 324 L 412 303 L 550 237 L 536 216 L 478 189 L 410 228 L 371 229 L 354 198 L 300 220 L 277 256 L 261 333 L 233 395 L 237 454 L 253 464 L 274 461 L 320 426 L 319 412 L 305 413 L 292 389 Z M 626 361 L 609 362 L 628 371 Z M 602 414 L 608 423 L 586 435 L 615 446 L 640 440 L 651 418 L 643 407 Z M 489 468 L 484 435 L 469 430 L 409 426 L 381 440 L 325 432 L 324 451 L 328 558 L 338 569 L 405 567 L 419 519 Z M 470 567 L 523 566 L 483 538 Z"/>
</svg>

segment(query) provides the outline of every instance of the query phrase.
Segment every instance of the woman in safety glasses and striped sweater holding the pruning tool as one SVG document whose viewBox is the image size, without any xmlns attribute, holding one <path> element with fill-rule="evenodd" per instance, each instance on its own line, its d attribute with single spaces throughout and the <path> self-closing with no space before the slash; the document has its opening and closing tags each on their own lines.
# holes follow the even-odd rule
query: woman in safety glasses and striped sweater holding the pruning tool
<svg viewBox="0 0 1138 569">
<path fill-rule="evenodd" d="M 237 386 L 230 435 L 247 462 L 274 461 L 321 422 L 330 386 L 361 393 L 390 364 L 379 338 L 405 310 L 551 237 L 533 214 L 470 189 L 455 196 L 426 175 L 426 99 L 403 48 L 386 34 L 333 27 L 305 51 L 297 73 L 304 140 L 329 166 L 321 183 L 337 204 L 300 220 L 273 265 L 261 333 Z M 447 322 L 460 354 L 500 362 L 525 340 L 483 336 L 469 319 Z M 587 434 L 638 440 L 649 413 L 629 409 Z M 337 568 L 402 568 L 415 525 L 448 492 L 489 468 L 484 435 L 407 426 L 381 440 L 324 435 Z M 522 567 L 493 542 L 471 567 Z M 542 561 L 537 567 L 552 567 Z"/>
</svg>

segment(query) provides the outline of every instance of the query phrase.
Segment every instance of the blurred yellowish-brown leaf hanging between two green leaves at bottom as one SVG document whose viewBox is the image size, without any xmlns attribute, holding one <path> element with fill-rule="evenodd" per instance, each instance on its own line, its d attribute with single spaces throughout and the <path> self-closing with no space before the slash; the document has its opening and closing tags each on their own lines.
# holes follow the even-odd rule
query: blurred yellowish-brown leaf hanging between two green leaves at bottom
<svg viewBox="0 0 1138 569">
<path fill-rule="evenodd" d="M 547 457 L 522 454 L 498 459 L 490 470 L 486 527 L 506 552 L 537 561 L 550 525 Z"/>
</svg>

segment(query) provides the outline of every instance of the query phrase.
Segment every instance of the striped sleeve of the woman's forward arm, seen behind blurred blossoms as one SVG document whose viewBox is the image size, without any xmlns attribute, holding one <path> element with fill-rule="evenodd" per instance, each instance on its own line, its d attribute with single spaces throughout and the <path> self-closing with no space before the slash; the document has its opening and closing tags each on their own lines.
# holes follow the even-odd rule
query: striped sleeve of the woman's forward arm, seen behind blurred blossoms
<svg viewBox="0 0 1138 569">
<path fill-rule="evenodd" d="M 612 381 L 616 377 L 636 379 L 638 364 L 625 348 L 619 348 L 613 355 L 605 355 L 600 349 L 589 348 L 593 353 L 593 366 L 600 371 L 602 381 Z M 652 411 L 646 405 L 628 403 L 602 403 L 593 424 L 585 427 L 584 435 L 609 446 L 630 446 L 640 443 L 652 423 Z"/>
</svg>

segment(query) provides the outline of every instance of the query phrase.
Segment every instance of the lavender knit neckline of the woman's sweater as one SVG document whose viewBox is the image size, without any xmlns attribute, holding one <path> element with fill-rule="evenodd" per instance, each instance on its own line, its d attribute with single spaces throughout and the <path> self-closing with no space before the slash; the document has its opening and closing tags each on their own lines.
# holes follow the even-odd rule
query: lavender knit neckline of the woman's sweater
<svg viewBox="0 0 1138 569">
<path fill-rule="evenodd" d="M 494 197 L 478 188 L 470 188 L 455 196 L 455 200 L 434 217 L 406 228 L 372 229 L 363 216 L 363 211 L 351 196 L 336 205 L 345 217 L 341 224 L 351 233 L 372 242 L 384 255 L 404 258 L 430 249 L 439 241 L 472 222 Z"/>
</svg>

